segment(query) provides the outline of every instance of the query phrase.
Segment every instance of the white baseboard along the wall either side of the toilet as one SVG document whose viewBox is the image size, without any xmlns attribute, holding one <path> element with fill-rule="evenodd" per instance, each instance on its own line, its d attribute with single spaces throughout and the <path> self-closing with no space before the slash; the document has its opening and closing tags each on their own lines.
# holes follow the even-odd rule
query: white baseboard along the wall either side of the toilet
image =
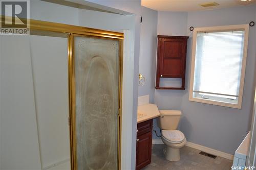
<svg viewBox="0 0 256 170">
<path fill-rule="evenodd" d="M 162 141 L 162 139 L 153 139 L 152 143 L 153 144 L 163 144 L 163 141 Z M 211 149 L 211 148 L 208 148 L 208 147 L 204 147 L 200 144 L 196 144 L 196 143 L 192 143 L 192 142 L 188 142 L 188 141 L 185 145 L 187 147 L 194 148 L 194 149 L 197 149 L 197 150 L 200 150 L 200 151 L 212 154 L 212 155 L 220 156 L 222 158 L 226 158 L 226 159 L 229 159 L 229 160 L 233 160 L 233 157 L 234 157 L 231 154 L 221 152 L 221 151 L 218 151 L 218 150 L 215 150 L 215 149 Z"/>
</svg>

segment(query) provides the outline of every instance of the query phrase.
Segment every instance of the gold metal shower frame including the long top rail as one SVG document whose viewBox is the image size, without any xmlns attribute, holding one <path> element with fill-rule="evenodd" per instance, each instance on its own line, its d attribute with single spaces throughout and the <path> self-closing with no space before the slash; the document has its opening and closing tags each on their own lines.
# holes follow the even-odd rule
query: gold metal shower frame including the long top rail
<svg viewBox="0 0 256 170">
<path fill-rule="evenodd" d="M 3 16 L 0 15 L 0 18 Z M 5 16 L 6 22 L 12 23 L 12 17 Z M 26 19 L 20 19 L 26 20 Z M 123 33 L 91 29 L 62 23 L 29 19 L 30 31 L 57 32 L 68 35 L 68 75 L 69 75 L 69 127 L 70 127 L 70 153 L 71 170 L 77 170 L 76 155 L 76 101 L 75 101 L 75 61 L 74 61 L 74 36 L 91 38 L 112 39 L 119 41 L 119 80 L 118 80 L 118 169 L 121 169 L 121 110 L 122 110 L 122 70 L 123 70 Z M 0 19 L 2 23 L 2 19 Z"/>
</svg>

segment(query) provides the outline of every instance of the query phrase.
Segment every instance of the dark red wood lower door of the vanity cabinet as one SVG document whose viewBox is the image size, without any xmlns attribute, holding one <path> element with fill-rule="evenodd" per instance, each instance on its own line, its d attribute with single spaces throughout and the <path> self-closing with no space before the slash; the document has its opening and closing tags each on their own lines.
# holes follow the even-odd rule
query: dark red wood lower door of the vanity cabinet
<svg viewBox="0 0 256 170">
<path fill-rule="evenodd" d="M 152 132 L 137 136 L 136 170 L 151 163 Z"/>
</svg>

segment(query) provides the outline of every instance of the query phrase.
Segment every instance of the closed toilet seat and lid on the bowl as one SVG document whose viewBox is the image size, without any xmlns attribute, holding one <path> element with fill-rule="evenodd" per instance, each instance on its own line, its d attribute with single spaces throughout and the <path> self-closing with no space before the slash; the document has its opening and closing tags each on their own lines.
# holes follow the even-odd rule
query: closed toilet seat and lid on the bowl
<svg viewBox="0 0 256 170">
<path fill-rule="evenodd" d="M 162 137 L 170 143 L 181 143 L 185 139 L 184 134 L 179 130 L 163 130 Z"/>
</svg>

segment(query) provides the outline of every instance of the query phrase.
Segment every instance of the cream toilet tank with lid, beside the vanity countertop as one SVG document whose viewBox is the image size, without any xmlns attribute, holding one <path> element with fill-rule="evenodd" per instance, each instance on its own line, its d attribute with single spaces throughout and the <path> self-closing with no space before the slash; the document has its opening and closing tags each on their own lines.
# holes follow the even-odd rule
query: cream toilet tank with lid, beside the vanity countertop
<svg viewBox="0 0 256 170">
<path fill-rule="evenodd" d="M 157 118 L 157 125 L 162 130 L 177 129 L 181 111 L 180 110 L 159 110 L 160 117 Z"/>
</svg>

